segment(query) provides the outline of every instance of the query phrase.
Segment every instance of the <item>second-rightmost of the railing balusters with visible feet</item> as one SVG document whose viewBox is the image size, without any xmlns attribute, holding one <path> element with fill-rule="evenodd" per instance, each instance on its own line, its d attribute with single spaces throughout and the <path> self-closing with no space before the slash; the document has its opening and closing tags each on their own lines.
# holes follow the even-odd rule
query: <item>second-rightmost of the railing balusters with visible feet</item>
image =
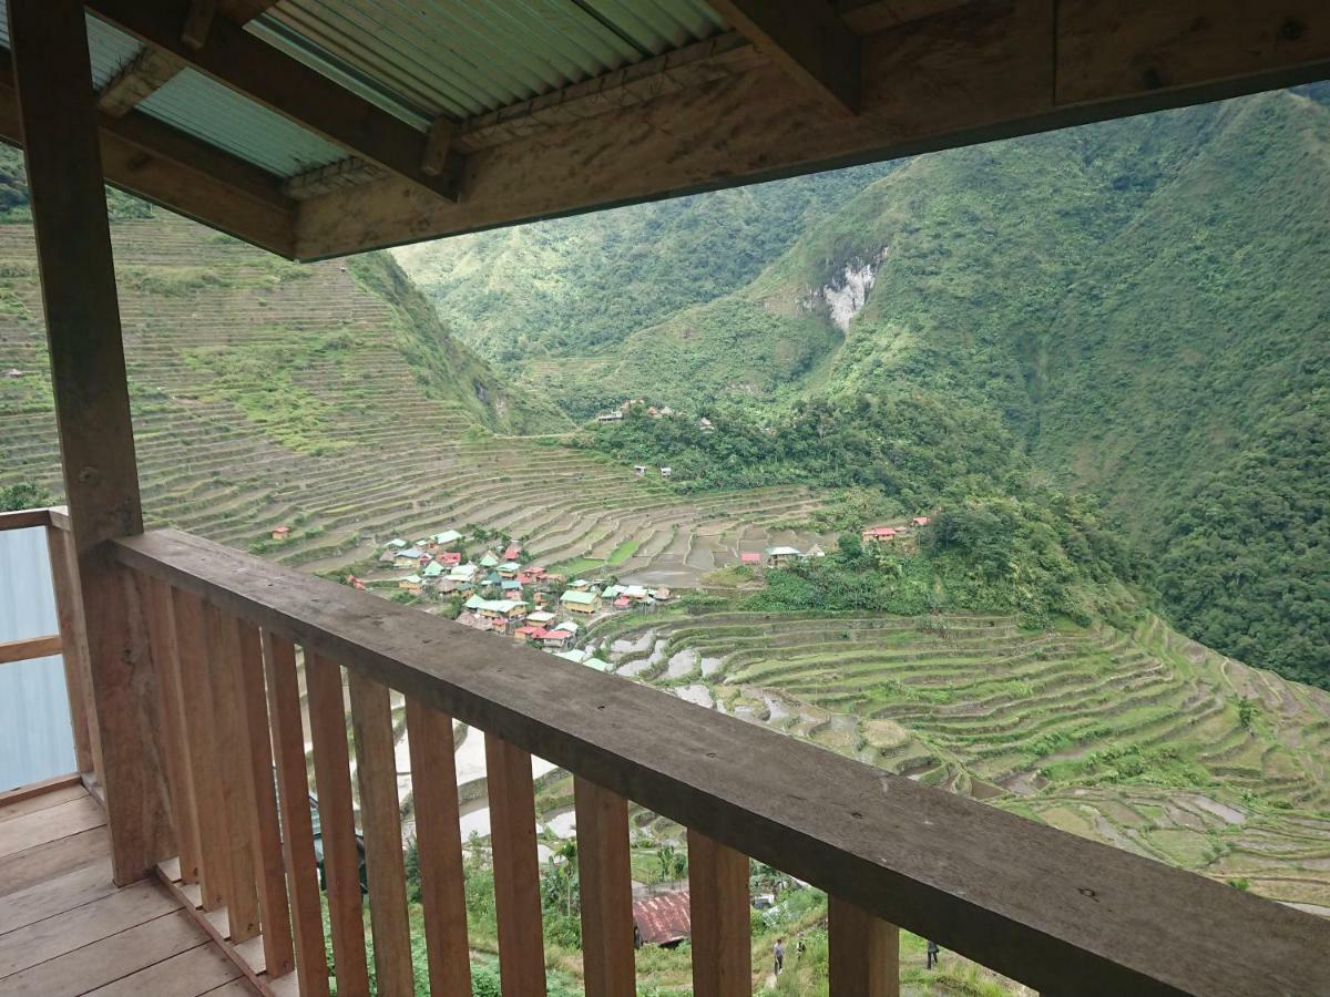
<svg viewBox="0 0 1330 997">
<path fill-rule="evenodd" d="M 241 723 L 234 682 L 234 661 L 239 657 L 235 619 L 210 602 L 203 604 L 203 633 L 207 635 L 207 678 L 213 691 L 215 719 L 214 747 L 225 803 L 225 833 L 230 856 L 226 920 L 233 942 L 247 941 L 259 932 L 258 891 L 254 851 L 250 848 L 249 739 Z"/>
</svg>

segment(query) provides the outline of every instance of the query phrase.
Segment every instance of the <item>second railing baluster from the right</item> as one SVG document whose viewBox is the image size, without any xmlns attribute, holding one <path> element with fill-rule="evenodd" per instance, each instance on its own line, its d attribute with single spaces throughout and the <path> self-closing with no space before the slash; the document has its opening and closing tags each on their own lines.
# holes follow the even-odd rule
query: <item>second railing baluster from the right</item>
<svg viewBox="0 0 1330 997">
<path fill-rule="evenodd" d="M 696 997 L 749 997 L 753 992 L 747 880 L 746 855 L 689 830 L 688 891 Z"/>
</svg>

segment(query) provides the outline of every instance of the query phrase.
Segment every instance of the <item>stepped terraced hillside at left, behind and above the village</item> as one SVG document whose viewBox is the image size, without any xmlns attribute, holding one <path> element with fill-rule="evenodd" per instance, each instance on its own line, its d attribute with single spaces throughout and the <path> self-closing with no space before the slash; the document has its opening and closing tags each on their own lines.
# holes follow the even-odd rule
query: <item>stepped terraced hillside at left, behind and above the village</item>
<svg viewBox="0 0 1330 997">
<path fill-rule="evenodd" d="M 539 435 L 567 423 L 451 340 L 387 257 L 287 265 L 170 217 L 113 237 L 156 524 L 314 570 L 475 524 L 548 565 L 677 585 L 739 549 L 802 540 L 778 528 L 818 505 L 803 488 L 684 504 Z M 0 484 L 59 491 L 35 267 L 31 229 L 0 226 L 0 371 L 23 375 L 0 379 Z M 281 524 L 293 537 L 265 544 Z"/>
</svg>

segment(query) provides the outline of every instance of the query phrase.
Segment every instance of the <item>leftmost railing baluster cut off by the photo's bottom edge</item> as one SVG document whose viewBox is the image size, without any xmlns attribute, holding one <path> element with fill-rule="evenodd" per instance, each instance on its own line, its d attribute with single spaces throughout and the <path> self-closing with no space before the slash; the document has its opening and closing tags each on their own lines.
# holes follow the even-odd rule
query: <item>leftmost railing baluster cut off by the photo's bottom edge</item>
<svg viewBox="0 0 1330 997">
<path fill-rule="evenodd" d="M 314 860 L 314 822 L 310 783 L 305 768 L 301 724 L 301 686 L 295 649 L 289 641 L 262 631 L 267 709 L 277 754 L 277 791 L 282 811 L 282 856 L 291 899 L 295 936 L 295 974 L 306 997 L 327 997 L 329 973 L 323 949 L 323 915 L 318 868 Z"/>
</svg>

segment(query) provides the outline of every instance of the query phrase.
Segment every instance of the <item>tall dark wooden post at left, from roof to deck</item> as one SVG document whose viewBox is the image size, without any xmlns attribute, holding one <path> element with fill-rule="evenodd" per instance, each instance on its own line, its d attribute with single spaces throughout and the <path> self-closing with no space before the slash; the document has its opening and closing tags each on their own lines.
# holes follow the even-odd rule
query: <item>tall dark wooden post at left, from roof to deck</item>
<svg viewBox="0 0 1330 997">
<path fill-rule="evenodd" d="M 112 873 L 125 884 L 176 844 L 144 621 L 105 544 L 144 522 L 88 33 L 78 0 L 13 0 L 8 12 Z"/>
</svg>

